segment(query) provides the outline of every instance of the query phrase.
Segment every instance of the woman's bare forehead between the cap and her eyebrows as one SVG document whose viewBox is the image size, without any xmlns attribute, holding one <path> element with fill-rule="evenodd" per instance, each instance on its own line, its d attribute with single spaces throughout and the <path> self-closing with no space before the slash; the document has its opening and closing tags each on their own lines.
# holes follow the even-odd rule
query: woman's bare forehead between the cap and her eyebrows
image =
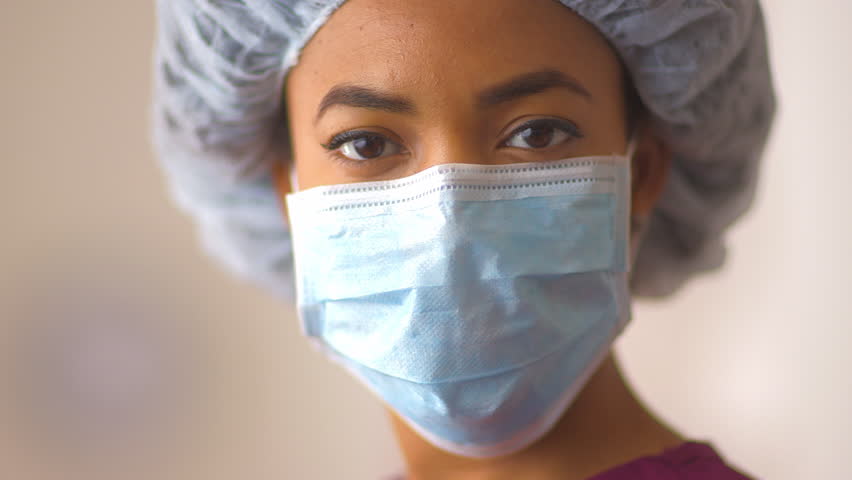
<svg viewBox="0 0 852 480">
<path fill-rule="evenodd" d="M 620 84 L 603 36 L 554 0 L 348 0 L 308 42 L 290 77 L 300 88 L 364 83 L 461 98 L 543 68 L 577 78 L 593 95 Z"/>
</svg>

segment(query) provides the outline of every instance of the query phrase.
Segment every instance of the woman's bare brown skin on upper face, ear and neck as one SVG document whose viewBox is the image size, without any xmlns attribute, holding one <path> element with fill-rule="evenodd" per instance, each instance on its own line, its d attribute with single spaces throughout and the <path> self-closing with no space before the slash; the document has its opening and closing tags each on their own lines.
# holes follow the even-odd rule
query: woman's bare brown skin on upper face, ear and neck
<svg viewBox="0 0 852 480">
<path fill-rule="evenodd" d="M 307 189 L 400 178 L 444 163 L 623 154 L 629 135 L 625 79 L 601 34 L 551 0 L 489 0 L 483 6 L 349 0 L 340 7 L 287 78 L 291 152 L 282 154 L 276 173 L 282 199 L 291 190 L 289 161 L 295 162 L 299 188 Z M 528 88 L 526 95 L 504 95 L 502 102 L 483 106 L 482 92 L 541 71 L 550 72 L 550 80 L 560 72 L 580 88 Z M 339 85 L 404 99 L 407 108 L 335 104 L 318 116 L 323 99 Z M 532 130 L 521 127 L 540 119 L 550 120 Z M 332 151 L 323 147 L 353 130 L 372 137 Z M 353 151 L 381 155 L 368 161 L 347 158 Z M 632 164 L 634 218 L 653 208 L 668 166 L 665 145 L 640 122 Z M 631 392 L 612 353 L 548 434 L 503 457 L 447 453 L 388 413 L 412 480 L 582 479 L 683 441 Z"/>
</svg>

